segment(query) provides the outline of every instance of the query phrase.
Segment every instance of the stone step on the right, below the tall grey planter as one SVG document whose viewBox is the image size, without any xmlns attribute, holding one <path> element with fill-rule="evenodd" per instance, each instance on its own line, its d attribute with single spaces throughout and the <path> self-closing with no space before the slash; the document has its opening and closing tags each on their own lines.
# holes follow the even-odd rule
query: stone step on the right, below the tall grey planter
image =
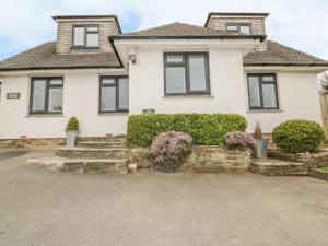
<svg viewBox="0 0 328 246">
<path fill-rule="evenodd" d="M 250 171 L 270 176 L 307 175 L 307 166 L 304 163 L 290 162 L 277 159 L 253 159 Z"/>
</svg>

